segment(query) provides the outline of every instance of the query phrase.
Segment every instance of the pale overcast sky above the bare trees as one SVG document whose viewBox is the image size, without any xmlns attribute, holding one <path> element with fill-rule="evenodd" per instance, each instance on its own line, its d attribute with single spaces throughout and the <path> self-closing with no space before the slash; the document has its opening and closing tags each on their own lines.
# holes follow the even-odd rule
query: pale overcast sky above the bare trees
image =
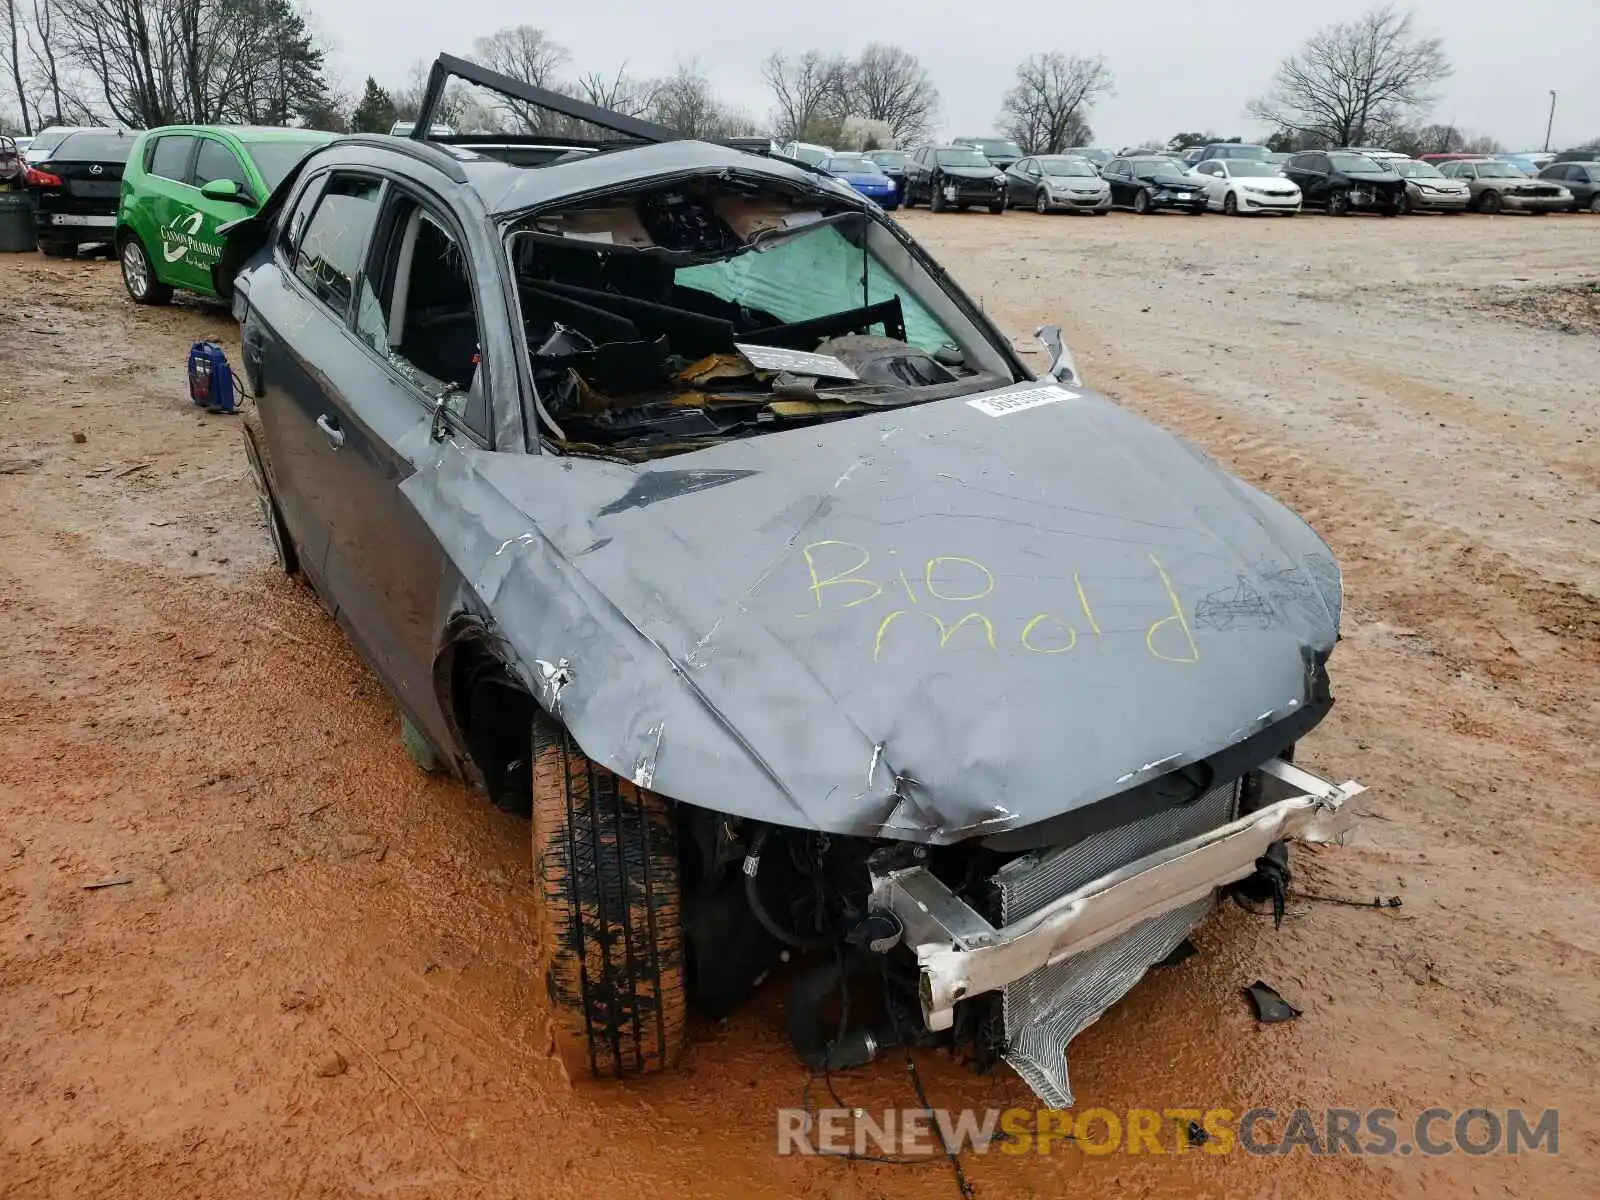
<svg viewBox="0 0 1600 1200">
<path fill-rule="evenodd" d="M 1104 54 L 1117 94 L 1091 114 L 1104 146 L 1179 130 L 1254 136 L 1245 104 L 1267 86 L 1278 59 L 1320 26 L 1354 18 L 1366 0 L 1114 0 L 1062 8 L 1034 0 L 584 0 L 520 8 L 502 0 L 310 0 L 334 46 L 333 74 L 352 93 L 366 75 L 402 83 L 410 66 L 440 50 L 469 54 L 502 26 L 544 27 L 579 69 L 662 75 L 698 59 L 725 101 L 765 118 L 758 75 L 774 48 L 851 53 L 891 42 L 917 54 L 942 98 L 942 131 L 989 133 L 1000 96 L 1024 56 L 1038 50 Z M 1403 8 L 1403 5 L 1402 5 Z M 1434 120 L 1488 133 L 1507 149 L 1538 149 L 1550 88 L 1552 149 L 1600 138 L 1600 3 L 1597 0 L 1418 0 L 1421 30 L 1445 38 L 1454 75 Z M 542 14 L 541 14 L 542 13 Z M 805 30 L 795 34 L 800 27 Z"/>
</svg>

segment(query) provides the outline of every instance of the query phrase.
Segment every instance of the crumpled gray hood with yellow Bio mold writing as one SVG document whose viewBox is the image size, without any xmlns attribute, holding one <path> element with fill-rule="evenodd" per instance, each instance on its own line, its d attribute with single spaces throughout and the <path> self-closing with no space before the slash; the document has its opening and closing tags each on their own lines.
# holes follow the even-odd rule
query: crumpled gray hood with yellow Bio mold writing
<svg viewBox="0 0 1600 1200">
<path fill-rule="evenodd" d="M 630 466 L 438 446 L 403 493 L 592 758 L 954 842 L 1302 710 L 1339 570 L 1110 400 L 1018 384 Z"/>
</svg>

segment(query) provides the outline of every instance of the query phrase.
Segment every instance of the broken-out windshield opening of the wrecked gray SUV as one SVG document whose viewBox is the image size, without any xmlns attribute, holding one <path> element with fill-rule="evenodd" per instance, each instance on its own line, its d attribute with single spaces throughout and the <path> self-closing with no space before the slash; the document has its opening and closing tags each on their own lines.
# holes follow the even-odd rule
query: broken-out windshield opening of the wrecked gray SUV
<svg viewBox="0 0 1600 1200">
<path fill-rule="evenodd" d="M 570 202 L 509 253 L 552 450 L 640 461 L 1014 382 L 890 226 L 742 178 Z"/>
</svg>

